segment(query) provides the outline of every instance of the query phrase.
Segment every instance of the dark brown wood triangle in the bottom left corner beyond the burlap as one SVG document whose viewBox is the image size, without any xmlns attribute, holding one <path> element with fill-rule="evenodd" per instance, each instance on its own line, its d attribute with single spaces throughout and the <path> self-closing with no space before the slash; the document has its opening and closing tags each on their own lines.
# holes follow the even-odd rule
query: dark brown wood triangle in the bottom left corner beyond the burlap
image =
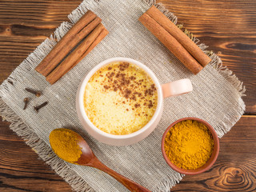
<svg viewBox="0 0 256 192">
<path fill-rule="evenodd" d="M 0 191 L 71 191 L 9 125 L 0 122 Z"/>
</svg>

